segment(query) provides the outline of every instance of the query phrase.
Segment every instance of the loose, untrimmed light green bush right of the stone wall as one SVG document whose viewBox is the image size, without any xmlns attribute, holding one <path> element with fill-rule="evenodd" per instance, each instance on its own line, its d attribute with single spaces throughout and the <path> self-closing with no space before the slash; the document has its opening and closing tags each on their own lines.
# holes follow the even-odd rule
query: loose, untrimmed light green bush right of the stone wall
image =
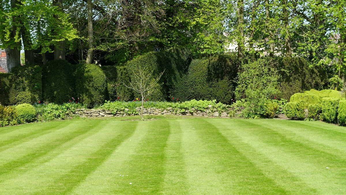
<svg viewBox="0 0 346 195">
<path fill-rule="evenodd" d="M 258 118 L 266 115 L 267 101 L 280 93 L 277 88 L 279 78 L 277 71 L 270 67 L 270 61 L 266 59 L 243 65 L 235 94 L 237 100 L 246 101 L 242 112 L 244 117 Z"/>
</svg>

